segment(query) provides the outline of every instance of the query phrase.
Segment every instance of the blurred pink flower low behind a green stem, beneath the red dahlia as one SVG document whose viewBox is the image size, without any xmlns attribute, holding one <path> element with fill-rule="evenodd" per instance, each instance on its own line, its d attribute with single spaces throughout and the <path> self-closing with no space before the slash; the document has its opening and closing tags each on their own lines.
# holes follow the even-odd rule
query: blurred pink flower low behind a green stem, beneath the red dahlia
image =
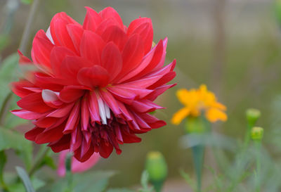
<svg viewBox="0 0 281 192">
<path fill-rule="evenodd" d="M 69 153 L 69 150 L 61 151 L 60 156 L 58 158 L 58 175 L 60 177 L 64 177 L 66 173 L 65 160 L 66 160 L 67 153 Z M 71 172 L 72 173 L 85 172 L 86 170 L 91 169 L 93 165 L 96 165 L 99 159 L 100 159 L 100 155 L 98 155 L 98 153 L 93 153 L 91 155 L 91 158 L 89 158 L 89 160 L 86 160 L 85 162 L 79 162 L 79 160 L 72 157 Z"/>
</svg>

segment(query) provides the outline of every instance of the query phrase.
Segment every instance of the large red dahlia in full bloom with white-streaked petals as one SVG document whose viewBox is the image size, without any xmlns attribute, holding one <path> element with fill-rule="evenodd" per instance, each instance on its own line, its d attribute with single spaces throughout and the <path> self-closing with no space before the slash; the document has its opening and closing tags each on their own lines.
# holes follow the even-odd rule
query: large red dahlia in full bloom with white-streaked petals
<svg viewBox="0 0 281 192">
<path fill-rule="evenodd" d="M 153 101 L 176 75 L 175 60 L 164 66 L 167 39 L 152 47 L 150 18 L 126 27 L 113 8 L 86 9 L 83 25 L 58 13 L 47 32 L 39 30 L 32 61 L 20 53 L 37 70 L 13 83 L 22 109 L 12 112 L 33 120 L 27 139 L 54 152 L 70 149 L 81 162 L 93 152 L 119 154 L 119 144 L 140 142 L 136 134 L 164 126 L 148 113 L 162 108 Z"/>
</svg>

